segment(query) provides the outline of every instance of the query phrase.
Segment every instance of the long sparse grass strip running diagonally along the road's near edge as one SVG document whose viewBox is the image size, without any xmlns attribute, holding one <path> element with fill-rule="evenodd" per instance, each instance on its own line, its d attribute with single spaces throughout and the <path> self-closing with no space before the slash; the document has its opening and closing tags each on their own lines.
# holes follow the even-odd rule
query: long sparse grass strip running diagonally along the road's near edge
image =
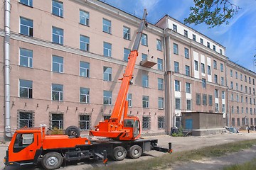
<svg viewBox="0 0 256 170">
<path fill-rule="evenodd" d="M 172 154 L 164 154 L 161 157 L 154 157 L 142 161 L 126 162 L 124 164 L 111 164 L 105 167 L 97 167 L 97 169 L 112 169 L 112 170 L 148 170 L 148 169 L 166 169 L 174 162 L 188 162 L 191 160 L 203 159 L 205 157 L 219 157 L 224 154 L 238 152 L 240 149 L 247 149 L 256 145 L 256 140 L 243 140 L 239 142 L 230 142 L 223 145 L 215 145 L 203 147 L 191 151 L 178 152 Z"/>
</svg>

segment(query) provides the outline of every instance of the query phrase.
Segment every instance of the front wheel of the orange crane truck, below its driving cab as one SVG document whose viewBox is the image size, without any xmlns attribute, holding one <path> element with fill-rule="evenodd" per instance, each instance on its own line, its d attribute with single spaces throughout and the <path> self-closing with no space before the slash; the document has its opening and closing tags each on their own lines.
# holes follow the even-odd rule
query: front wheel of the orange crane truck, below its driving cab
<svg viewBox="0 0 256 170">
<path fill-rule="evenodd" d="M 44 169 L 58 169 L 63 163 L 63 157 L 58 152 L 49 152 L 43 156 L 41 164 Z"/>
</svg>

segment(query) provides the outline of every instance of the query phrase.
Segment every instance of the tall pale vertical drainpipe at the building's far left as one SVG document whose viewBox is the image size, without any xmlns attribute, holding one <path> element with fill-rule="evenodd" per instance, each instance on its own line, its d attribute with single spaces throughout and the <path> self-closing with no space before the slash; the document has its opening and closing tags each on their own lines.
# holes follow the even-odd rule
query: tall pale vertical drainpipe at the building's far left
<svg viewBox="0 0 256 170">
<path fill-rule="evenodd" d="M 5 135 L 11 137 L 10 125 L 10 16 L 11 2 L 4 1 L 4 110 L 5 110 Z"/>
</svg>

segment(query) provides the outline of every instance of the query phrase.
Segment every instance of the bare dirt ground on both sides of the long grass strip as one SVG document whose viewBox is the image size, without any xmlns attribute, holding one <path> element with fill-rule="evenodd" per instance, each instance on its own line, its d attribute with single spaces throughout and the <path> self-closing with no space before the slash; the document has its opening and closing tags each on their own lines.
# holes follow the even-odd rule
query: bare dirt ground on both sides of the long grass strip
<svg viewBox="0 0 256 170">
<path fill-rule="evenodd" d="M 159 147 L 168 147 L 168 143 L 171 142 L 173 151 L 181 152 L 181 151 L 185 151 L 185 150 L 198 149 L 201 147 L 220 145 L 220 144 L 224 144 L 224 143 L 228 143 L 228 142 L 256 139 L 256 132 L 251 131 L 250 133 L 247 133 L 246 131 L 241 131 L 239 134 L 223 133 L 223 134 L 219 134 L 219 135 L 208 135 L 208 136 L 201 136 L 201 137 L 193 137 L 193 136 L 171 137 L 169 135 L 161 135 L 161 136 L 144 137 L 144 138 L 159 140 L 159 144 L 158 144 Z M 0 145 L 0 169 L 4 169 L 3 159 L 4 159 L 4 155 L 5 155 L 7 146 L 8 146 L 8 144 Z M 215 159 L 204 159 L 199 162 L 190 162 L 189 164 L 180 164 L 179 163 L 179 164 L 176 164 L 176 165 L 170 167 L 170 169 L 193 169 L 193 167 L 195 167 L 195 169 L 211 169 L 210 168 L 210 167 L 212 167 L 211 165 L 213 165 L 213 167 L 214 167 L 212 169 L 219 169 L 221 165 L 227 164 L 227 162 L 228 162 L 228 164 L 240 164 L 240 162 L 241 162 L 240 159 L 248 161 L 247 159 L 245 159 L 245 157 L 252 157 L 252 158 L 256 157 L 256 147 L 253 147 L 253 150 L 249 149 L 249 151 L 252 151 L 252 152 L 246 152 L 246 150 L 245 150 L 243 152 L 234 153 L 234 155 L 236 155 L 236 156 L 234 156 L 232 159 L 229 159 L 228 156 L 223 156 L 223 157 L 219 157 L 219 158 L 215 158 Z M 161 152 L 151 151 L 151 152 L 146 152 L 139 159 L 124 159 L 124 161 L 122 161 L 122 162 L 134 162 L 134 161 L 149 159 L 152 157 L 159 157 L 163 154 L 164 153 L 161 153 Z M 242 157 L 240 155 L 242 155 Z M 109 164 L 122 164 L 122 162 L 109 161 Z M 219 166 L 217 166 L 217 164 L 219 164 Z M 78 169 L 78 170 L 80 170 L 80 169 L 89 169 L 89 168 L 92 168 L 95 166 L 102 166 L 102 162 L 85 160 L 85 162 L 68 164 L 68 166 L 65 166 L 65 167 L 63 166 L 60 169 L 65 169 L 65 170 Z M 202 168 L 200 168 L 199 166 L 202 166 Z M 26 169 L 31 169 L 31 170 L 37 169 L 38 170 L 41 168 L 39 166 L 38 168 L 26 167 Z"/>
</svg>

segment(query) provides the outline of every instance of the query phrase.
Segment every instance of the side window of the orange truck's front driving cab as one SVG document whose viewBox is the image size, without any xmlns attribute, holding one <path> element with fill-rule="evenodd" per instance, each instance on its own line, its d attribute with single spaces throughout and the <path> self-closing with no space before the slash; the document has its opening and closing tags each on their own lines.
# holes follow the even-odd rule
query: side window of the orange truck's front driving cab
<svg viewBox="0 0 256 170">
<path fill-rule="evenodd" d="M 14 142 L 14 152 L 20 152 L 22 149 L 33 143 L 33 133 L 21 134 L 18 133 Z"/>
</svg>

